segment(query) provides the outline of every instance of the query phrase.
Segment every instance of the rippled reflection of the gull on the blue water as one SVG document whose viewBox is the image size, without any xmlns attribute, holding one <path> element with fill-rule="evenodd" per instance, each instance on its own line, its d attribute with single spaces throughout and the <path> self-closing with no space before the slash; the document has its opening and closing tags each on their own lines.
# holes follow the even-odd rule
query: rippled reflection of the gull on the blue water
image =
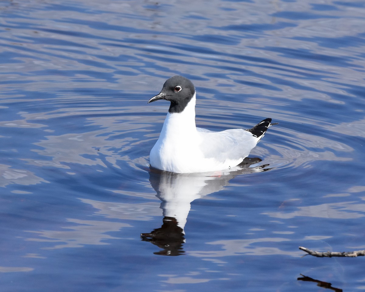
<svg viewBox="0 0 365 292">
<path fill-rule="evenodd" d="M 269 170 L 268 164 L 253 166 L 260 158 L 248 158 L 226 171 L 205 173 L 173 173 L 151 168 L 150 183 L 161 200 L 162 226 L 150 233 L 142 233 L 142 241 L 161 248 L 158 255 L 182 255 L 185 243 L 184 227 L 190 211 L 190 203 L 202 196 L 218 192 L 239 175 Z"/>
</svg>

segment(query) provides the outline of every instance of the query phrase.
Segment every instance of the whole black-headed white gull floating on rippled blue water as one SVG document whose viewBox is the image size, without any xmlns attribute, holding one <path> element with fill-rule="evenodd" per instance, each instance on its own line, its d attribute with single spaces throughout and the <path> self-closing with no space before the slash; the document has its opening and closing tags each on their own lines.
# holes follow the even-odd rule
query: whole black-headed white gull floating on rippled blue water
<svg viewBox="0 0 365 292">
<path fill-rule="evenodd" d="M 249 130 L 213 132 L 197 128 L 195 87 L 183 76 L 166 80 L 161 92 L 148 103 L 159 99 L 171 103 L 160 138 L 150 153 L 151 166 L 160 170 L 194 173 L 230 169 L 249 155 L 273 125 L 268 118 Z"/>
</svg>

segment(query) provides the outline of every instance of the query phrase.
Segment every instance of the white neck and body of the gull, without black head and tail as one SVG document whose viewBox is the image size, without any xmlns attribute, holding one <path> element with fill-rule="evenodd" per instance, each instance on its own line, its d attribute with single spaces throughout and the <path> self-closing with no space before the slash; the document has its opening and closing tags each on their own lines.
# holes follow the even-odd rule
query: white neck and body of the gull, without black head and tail
<svg viewBox="0 0 365 292">
<path fill-rule="evenodd" d="M 154 168 L 176 173 L 229 169 L 262 138 L 243 129 L 212 132 L 195 125 L 195 93 L 182 112 L 168 113 L 150 153 Z"/>
</svg>

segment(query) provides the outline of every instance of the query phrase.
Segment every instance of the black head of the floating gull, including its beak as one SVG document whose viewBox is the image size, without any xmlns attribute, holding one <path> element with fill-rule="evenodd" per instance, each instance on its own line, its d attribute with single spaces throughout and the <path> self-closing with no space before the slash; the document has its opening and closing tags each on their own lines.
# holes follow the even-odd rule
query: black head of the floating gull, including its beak
<svg viewBox="0 0 365 292">
<path fill-rule="evenodd" d="M 148 103 L 159 99 L 171 102 L 169 113 L 182 112 L 195 93 L 194 84 L 183 76 L 173 76 L 166 80 L 161 92 L 152 97 Z"/>
</svg>

